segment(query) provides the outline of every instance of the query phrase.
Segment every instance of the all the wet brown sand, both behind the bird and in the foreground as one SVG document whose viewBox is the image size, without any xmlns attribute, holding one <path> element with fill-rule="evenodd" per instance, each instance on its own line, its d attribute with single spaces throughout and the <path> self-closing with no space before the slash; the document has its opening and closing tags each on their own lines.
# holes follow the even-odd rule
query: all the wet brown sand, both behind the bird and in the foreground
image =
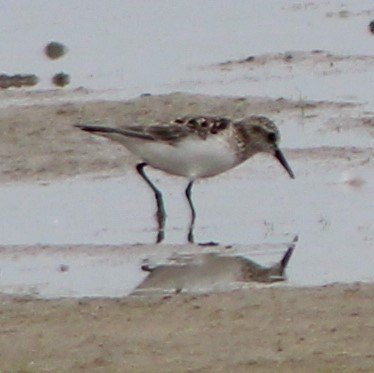
<svg viewBox="0 0 374 373">
<path fill-rule="evenodd" d="M 282 131 L 282 116 L 307 122 L 332 111 L 342 113 L 336 133 L 344 132 L 347 123 L 362 131 L 362 138 L 372 136 L 367 118 L 344 114 L 351 109 L 349 103 L 183 94 L 7 107 L 0 113 L 0 181 L 125 174 L 132 160 L 122 147 L 72 127 L 93 119 L 126 125 L 191 113 L 262 114 L 278 119 Z M 348 162 L 369 170 L 373 155 L 371 148 L 357 146 L 286 146 L 285 152 L 290 162 L 318 159 L 329 167 Z M 164 298 L 39 300 L 2 295 L 0 370 L 373 372 L 373 296 L 374 285 L 359 283 Z"/>
</svg>

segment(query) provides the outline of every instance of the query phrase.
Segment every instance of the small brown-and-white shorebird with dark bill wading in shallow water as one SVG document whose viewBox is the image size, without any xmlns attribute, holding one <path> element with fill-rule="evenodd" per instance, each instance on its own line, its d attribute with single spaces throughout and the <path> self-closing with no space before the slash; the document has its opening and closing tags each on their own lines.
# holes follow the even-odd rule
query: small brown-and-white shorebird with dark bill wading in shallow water
<svg viewBox="0 0 374 373">
<path fill-rule="evenodd" d="M 152 189 L 157 203 L 157 242 L 164 239 L 166 213 L 161 192 L 144 172 L 147 165 L 188 179 L 185 195 L 191 210 L 189 242 L 194 242 L 196 212 L 191 192 L 196 180 L 228 171 L 259 152 L 273 155 L 288 175 L 295 177 L 278 147 L 278 128 L 264 116 L 240 120 L 195 116 L 122 128 L 84 124 L 76 127 L 119 142 L 140 158 L 136 170 Z"/>
</svg>

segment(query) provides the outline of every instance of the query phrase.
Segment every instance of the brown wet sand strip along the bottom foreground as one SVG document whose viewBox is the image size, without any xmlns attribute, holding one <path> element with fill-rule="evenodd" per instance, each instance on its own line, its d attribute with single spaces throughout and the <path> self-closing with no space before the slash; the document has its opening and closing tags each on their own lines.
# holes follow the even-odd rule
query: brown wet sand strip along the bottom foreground
<svg viewBox="0 0 374 373">
<path fill-rule="evenodd" d="M 373 296 L 363 284 L 162 299 L 2 296 L 0 370 L 373 372 Z"/>
</svg>

